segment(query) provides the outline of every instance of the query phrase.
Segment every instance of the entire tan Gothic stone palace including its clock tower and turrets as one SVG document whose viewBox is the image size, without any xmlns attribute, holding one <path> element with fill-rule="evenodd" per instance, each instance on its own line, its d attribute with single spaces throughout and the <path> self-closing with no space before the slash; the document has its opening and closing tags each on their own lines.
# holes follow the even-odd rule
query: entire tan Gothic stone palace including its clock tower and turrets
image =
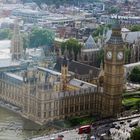
<svg viewBox="0 0 140 140">
<path fill-rule="evenodd" d="M 17 30 L 15 28 L 16 37 L 12 40 L 12 60 L 18 60 L 22 55 Z M 104 54 L 104 69 L 93 78 L 94 84 L 80 80 L 68 71 L 67 55 L 61 61 L 60 72 L 42 65 L 25 67 L 13 63 L 1 67 L 0 99 L 18 106 L 23 117 L 39 124 L 75 116 L 115 117 L 122 109 L 125 61 L 118 22 L 112 26 Z M 92 77 L 92 73 L 90 75 Z"/>
</svg>

